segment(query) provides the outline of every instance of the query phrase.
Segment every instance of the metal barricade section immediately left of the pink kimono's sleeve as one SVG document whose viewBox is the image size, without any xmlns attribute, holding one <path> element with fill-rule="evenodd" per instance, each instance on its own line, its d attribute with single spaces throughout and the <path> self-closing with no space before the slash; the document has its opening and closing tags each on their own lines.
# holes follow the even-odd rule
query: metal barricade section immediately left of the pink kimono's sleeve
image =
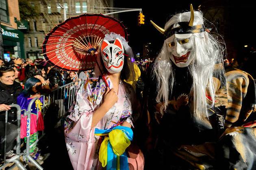
<svg viewBox="0 0 256 170">
<path fill-rule="evenodd" d="M 76 97 L 76 88 L 78 85 L 78 81 L 71 82 L 66 85 L 59 87 L 52 91 L 48 96 L 48 106 L 51 102 L 55 102 L 59 106 L 58 118 L 63 117 L 65 112 L 72 105 L 75 97 Z"/>
</svg>

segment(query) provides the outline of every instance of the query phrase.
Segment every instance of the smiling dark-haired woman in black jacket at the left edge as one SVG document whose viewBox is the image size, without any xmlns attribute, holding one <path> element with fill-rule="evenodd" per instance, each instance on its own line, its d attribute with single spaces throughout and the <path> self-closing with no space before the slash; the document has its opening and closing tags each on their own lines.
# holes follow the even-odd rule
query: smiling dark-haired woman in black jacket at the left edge
<svg viewBox="0 0 256 170">
<path fill-rule="evenodd" d="M 17 96 L 22 91 L 20 83 L 17 83 L 15 80 L 15 73 L 12 67 L 10 66 L 1 66 L 0 67 L 0 154 L 2 155 L 4 151 L 4 121 L 5 121 L 5 110 L 8 111 L 8 123 L 7 124 L 7 148 L 6 148 L 6 159 L 16 159 L 13 153 L 13 147 L 15 145 L 15 136 L 17 136 L 17 125 L 13 124 L 17 119 L 15 114 L 15 108 L 11 108 L 10 104 L 17 103 Z"/>
</svg>

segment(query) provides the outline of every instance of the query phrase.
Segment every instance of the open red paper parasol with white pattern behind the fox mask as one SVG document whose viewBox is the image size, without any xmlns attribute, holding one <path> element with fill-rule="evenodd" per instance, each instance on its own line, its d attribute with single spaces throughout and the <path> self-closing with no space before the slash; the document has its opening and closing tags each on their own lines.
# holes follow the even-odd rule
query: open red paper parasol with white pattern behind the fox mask
<svg viewBox="0 0 256 170">
<path fill-rule="evenodd" d="M 111 32 L 127 40 L 126 28 L 113 17 L 102 14 L 71 17 L 47 34 L 42 55 L 63 70 L 92 70 L 102 39 Z"/>
</svg>

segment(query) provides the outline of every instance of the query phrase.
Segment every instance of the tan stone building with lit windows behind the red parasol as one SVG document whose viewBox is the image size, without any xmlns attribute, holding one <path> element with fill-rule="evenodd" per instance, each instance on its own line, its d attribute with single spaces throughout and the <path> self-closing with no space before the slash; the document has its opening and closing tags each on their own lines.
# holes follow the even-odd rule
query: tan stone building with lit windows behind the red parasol
<svg viewBox="0 0 256 170">
<path fill-rule="evenodd" d="M 30 29 L 24 34 L 26 57 L 32 60 L 42 57 L 40 45 L 45 35 L 64 21 L 64 7 L 66 18 L 84 13 L 104 14 L 108 13 L 108 7 L 113 7 L 113 0 L 31 0 L 30 2 L 37 6 L 40 12 L 39 17 L 29 19 Z"/>
</svg>

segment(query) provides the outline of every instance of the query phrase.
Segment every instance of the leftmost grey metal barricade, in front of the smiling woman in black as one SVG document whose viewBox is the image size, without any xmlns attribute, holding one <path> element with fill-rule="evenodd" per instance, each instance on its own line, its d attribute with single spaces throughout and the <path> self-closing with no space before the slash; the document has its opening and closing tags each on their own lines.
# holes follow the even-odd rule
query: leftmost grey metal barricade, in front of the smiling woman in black
<svg viewBox="0 0 256 170">
<path fill-rule="evenodd" d="M 17 104 L 11 104 L 10 107 L 17 108 L 17 127 L 18 127 L 18 134 L 16 138 L 16 154 L 14 157 L 14 160 L 11 159 L 10 161 L 6 160 L 6 144 L 7 144 L 7 123 L 8 123 L 8 111 L 5 112 L 5 133 L 4 133 L 4 164 L 0 166 L 0 169 L 4 168 L 7 164 L 13 162 L 15 163 L 21 170 L 26 170 L 26 168 L 23 166 L 23 164 L 20 162 L 20 116 L 21 116 L 21 108 Z"/>
</svg>

